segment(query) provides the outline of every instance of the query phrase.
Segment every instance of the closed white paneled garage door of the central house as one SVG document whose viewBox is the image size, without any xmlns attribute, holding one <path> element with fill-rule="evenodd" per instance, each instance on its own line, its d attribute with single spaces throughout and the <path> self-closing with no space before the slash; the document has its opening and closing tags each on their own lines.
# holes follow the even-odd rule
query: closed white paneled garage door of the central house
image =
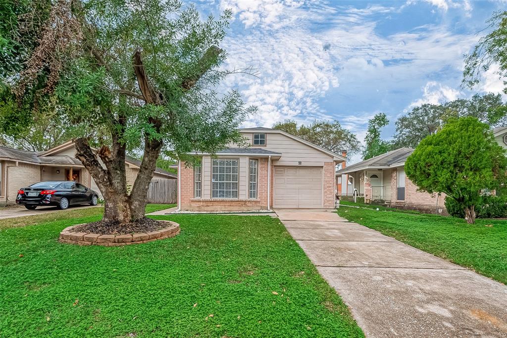
<svg viewBox="0 0 507 338">
<path fill-rule="evenodd" d="M 322 168 L 275 167 L 273 207 L 322 208 Z"/>
</svg>

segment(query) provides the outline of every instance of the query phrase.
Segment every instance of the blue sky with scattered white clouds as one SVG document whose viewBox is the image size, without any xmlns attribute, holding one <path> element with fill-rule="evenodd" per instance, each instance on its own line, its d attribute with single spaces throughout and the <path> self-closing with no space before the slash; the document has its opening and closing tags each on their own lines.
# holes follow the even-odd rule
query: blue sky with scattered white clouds
<svg viewBox="0 0 507 338">
<path fill-rule="evenodd" d="M 391 121 L 383 132 L 389 138 L 413 106 L 473 95 L 460 87 L 463 54 L 507 3 L 202 0 L 197 7 L 203 15 L 232 9 L 226 67 L 259 69 L 259 78 L 234 74 L 223 84 L 258 106 L 245 127 L 338 120 L 362 141 L 377 112 Z M 476 91 L 502 88 L 493 68 Z"/>
</svg>

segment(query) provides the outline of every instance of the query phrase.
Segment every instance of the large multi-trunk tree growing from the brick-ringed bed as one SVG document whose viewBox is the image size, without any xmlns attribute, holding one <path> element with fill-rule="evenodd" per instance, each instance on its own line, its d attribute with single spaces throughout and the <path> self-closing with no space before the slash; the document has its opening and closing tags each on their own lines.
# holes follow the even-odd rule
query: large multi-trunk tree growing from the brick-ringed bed
<svg viewBox="0 0 507 338">
<path fill-rule="evenodd" d="M 16 29 L 35 33 L 11 57 L 20 66 L 2 76 L 0 107 L 10 114 L 1 125 L 14 135 L 56 111 L 104 196 L 104 221 L 144 218 L 161 153 L 182 158 L 241 142 L 236 129 L 252 108 L 235 91 L 215 90 L 228 74 L 218 46 L 230 11 L 201 20 L 175 0 L 54 0 L 31 25 L 26 14 L 38 16 L 42 3 L 18 15 Z M 143 157 L 129 194 L 125 156 L 135 148 Z"/>
</svg>

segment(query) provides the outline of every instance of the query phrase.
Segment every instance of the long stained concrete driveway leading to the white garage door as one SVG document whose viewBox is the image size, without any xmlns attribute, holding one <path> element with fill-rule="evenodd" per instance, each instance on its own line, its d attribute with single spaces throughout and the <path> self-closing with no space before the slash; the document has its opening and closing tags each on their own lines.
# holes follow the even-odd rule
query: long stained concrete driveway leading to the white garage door
<svg viewBox="0 0 507 338">
<path fill-rule="evenodd" d="M 507 286 L 332 212 L 277 212 L 367 337 L 507 337 Z"/>
</svg>

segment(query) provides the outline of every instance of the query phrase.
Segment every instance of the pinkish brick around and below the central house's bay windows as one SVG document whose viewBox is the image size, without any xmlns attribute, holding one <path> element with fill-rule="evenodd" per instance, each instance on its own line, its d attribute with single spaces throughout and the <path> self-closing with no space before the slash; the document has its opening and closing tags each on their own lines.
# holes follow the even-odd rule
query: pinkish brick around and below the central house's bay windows
<svg viewBox="0 0 507 338">
<path fill-rule="evenodd" d="M 273 167 L 271 167 L 273 169 Z M 203 168 L 210 170 L 210 168 Z M 271 170 L 271 173 L 273 171 Z M 203 174 L 204 177 L 204 174 Z M 243 211 L 243 210 L 265 210 L 268 205 L 268 159 L 259 159 L 258 199 L 210 199 L 209 196 L 194 198 L 194 169 L 186 168 L 182 163 L 180 170 L 181 208 L 182 210 L 219 210 L 219 211 Z M 272 180 L 271 180 L 272 182 Z M 247 182 L 239 182 L 247 184 Z M 204 185 L 204 182 L 203 182 Z M 272 189 L 271 189 L 272 193 Z"/>
</svg>

